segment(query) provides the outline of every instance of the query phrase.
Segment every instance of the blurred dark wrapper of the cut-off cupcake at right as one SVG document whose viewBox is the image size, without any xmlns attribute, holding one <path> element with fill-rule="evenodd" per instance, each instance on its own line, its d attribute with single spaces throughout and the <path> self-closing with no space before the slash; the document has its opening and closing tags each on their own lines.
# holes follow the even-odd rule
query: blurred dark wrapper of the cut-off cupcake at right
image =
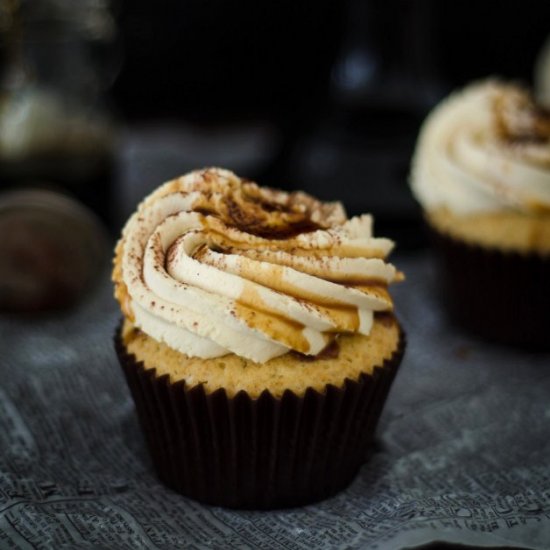
<svg viewBox="0 0 550 550">
<path fill-rule="evenodd" d="M 496 342 L 550 349 L 550 256 L 476 246 L 428 229 L 457 324 Z"/>
</svg>

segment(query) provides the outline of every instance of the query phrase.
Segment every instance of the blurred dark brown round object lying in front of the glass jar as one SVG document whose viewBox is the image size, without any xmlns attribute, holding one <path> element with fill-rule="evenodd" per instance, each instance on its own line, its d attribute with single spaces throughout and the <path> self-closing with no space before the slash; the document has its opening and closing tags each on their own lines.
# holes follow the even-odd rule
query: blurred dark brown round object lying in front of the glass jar
<svg viewBox="0 0 550 550">
<path fill-rule="evenodd" d="M 0 194 L 0 311 L 73 305 L 97 280 L 107 243 L 95 215 L 61 193 Z"/>
</svg>

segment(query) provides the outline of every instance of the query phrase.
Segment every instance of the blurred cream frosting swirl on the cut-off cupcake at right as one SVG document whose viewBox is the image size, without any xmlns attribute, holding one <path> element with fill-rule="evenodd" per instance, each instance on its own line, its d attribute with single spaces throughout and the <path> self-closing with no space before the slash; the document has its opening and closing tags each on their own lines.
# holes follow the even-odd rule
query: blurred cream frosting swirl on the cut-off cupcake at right
<svg viewBox="0 0 550 550">
<path fill-rule="evenodd" d="M 550 112 L 496 80 L 451 95 L 421 129 L 411 186 L 427 209 L 550 212 Z"/>
</svg>

